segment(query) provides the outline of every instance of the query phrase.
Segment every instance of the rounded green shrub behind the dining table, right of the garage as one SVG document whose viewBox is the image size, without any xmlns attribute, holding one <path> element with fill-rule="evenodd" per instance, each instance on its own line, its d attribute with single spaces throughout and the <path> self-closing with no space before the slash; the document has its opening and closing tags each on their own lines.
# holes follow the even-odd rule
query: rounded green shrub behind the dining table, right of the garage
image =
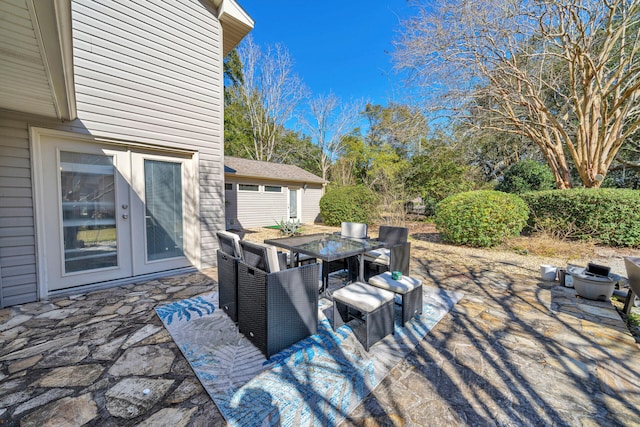
<svg viewBox="0 0 640 427">
<path fill-rule="evenodd" d="M 327 225 L 342 222 L 369 223 L 375 218 L 377 197 L 362 185 L 338 187 L 320 199 L 320 215 Z"/>
</svg>

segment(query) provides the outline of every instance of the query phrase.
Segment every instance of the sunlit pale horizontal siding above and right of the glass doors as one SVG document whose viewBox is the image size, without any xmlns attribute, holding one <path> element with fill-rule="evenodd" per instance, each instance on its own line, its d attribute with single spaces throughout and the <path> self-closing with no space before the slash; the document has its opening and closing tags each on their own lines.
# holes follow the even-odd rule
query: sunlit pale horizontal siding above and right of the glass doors
<svg viewBox="0 0 640 427">
<path fill-rule="evenodd" d="M 201 266 L 224 227 L 220 23 L 198 0 L 75 0 L 78 117 L 91 134 L 199 153 Z"/>
</svg>

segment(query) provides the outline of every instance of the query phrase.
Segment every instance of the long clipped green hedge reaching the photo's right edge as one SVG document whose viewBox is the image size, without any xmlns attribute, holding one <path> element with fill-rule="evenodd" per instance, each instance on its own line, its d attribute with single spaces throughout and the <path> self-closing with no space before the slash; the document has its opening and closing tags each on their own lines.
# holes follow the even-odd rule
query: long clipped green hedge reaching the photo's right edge
<svg viewBox="0 0 640 427">
<path fill-rule="evenodd" d="M 521 195 L 529 205 L 528 229 L 610 246 L 640 246 L 640 192 L 574 188 Z"/>
</svg>

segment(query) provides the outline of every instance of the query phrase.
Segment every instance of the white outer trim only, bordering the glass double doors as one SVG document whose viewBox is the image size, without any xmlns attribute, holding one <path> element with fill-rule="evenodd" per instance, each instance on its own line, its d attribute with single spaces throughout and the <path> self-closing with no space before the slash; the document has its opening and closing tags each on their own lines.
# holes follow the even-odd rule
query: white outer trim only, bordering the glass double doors
<svg viewBox="0 0 640 427">
<path fill-rule="evenodd" d="M 47 272 L 47 256 L 51 256 L 52 254 L 47 253 L 48 250 L 46 245 L 45 231 L 47 229 L 47 221 L 46 221 L 46 204 L 45 204 L 45 182 L 44 175 L 41 172 L 40 165 L 43 164 L 43 161 L 46 159 L 43 158 L 42 153 L 42 139 L 43 138 L 64 138 L 69 142 L 77 142 L 77 143 L 89 143 L 96 144 L 102 146 L 111 146 L 117 149 L 126 149 L 130 152 L 134 150 L 138 151 L 146 151 L 148 153 L 153 153 L 154 155 L 177 155 L 178 157 L 183 157 L 188 159 L 188 162 L 191 163 L 190 170 L 190 180 L 191 180 L 191 198 L 189 199 L 190 203 L 190 214 L 185 215 L 185 228 L 187 228 L 185 232 L 185 238 L 187 235 L 191 238 L 191 241 L 185 245 L 188 247 L 188 250 L 185 248 L 185 256 L 187 260 L 191 263 L 190 268 L 200 268 L 200 229 L 198 227 L 198 218 L 200 217 L 200 185 L 199 185 L 199 156 L 195 151 L 176 149 L 176 148 L 164 148 L 153 144 L 142 144 L 139 142 L 127 142 L 122 140 L 114 140 L 103 137 L 95 137 L 93 135 L 80 134 L 72 131 L 61 131 L 55 129 L 48 128 L 40 128 L 35 126 L 29 127 L 29 145 L 31 150 L 31 190 L 33 197 L 33 216 L 34 216 L 34 240 L 35 240 L 35 250 L 36 250 L 36 271 L 37 271 L 37 293 L 38 299 L 46 299 L 50 294 L 58 294 L 60 292 L 64 292 L 65 289 L 62 290 L 49 290 L 49 281 L 50 277 Z M 129 183 L 131 191 L 134 190 L 132 183 Z M 131 223 L 129 223 L 129 233 L 131 234 Z M 185 267 L 186 268 L 186 267 Z M 157 274 L 162 274 L 162 272 L 158 272 Z M 146 274 L 145 274 L 146 275 Z M 133 276 L 131 278 L 135 278 L 135 269 L 133 272 Z M 116 279 L 116 282 L 126 281 L 125 279 Z M 95 284 L 99 282 L 103 282 L 96 279 Z M 113 282 L 113 280 L 107 281 L 105 283 Z M 77 287 L 67 288 L 66 291 L 74 292 L 74 289 L 82 289 L 86 287 L 92 287 L 92 284 L 80 285 Z"/>
</svg>

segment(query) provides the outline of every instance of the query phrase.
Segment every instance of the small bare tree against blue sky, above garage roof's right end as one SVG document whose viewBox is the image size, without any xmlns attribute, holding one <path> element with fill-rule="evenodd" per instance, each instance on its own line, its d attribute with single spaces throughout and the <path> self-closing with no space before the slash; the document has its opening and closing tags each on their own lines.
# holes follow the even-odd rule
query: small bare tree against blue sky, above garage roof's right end
<svg viewBox="0 0 640 427">
<path fill-rule="evenodd" d="M 343 137 L 351 131 L 362 107 L 361 103 L 343 104 L 333 94 L 320 95 L 309 101 L 309 118 L 303 119 L 303 126 L 309 132 L 313 143 L 320 148 L 318 164 L 322 179 L 327 179 L 329 168 L 344 147 Z"/>
</svg>

